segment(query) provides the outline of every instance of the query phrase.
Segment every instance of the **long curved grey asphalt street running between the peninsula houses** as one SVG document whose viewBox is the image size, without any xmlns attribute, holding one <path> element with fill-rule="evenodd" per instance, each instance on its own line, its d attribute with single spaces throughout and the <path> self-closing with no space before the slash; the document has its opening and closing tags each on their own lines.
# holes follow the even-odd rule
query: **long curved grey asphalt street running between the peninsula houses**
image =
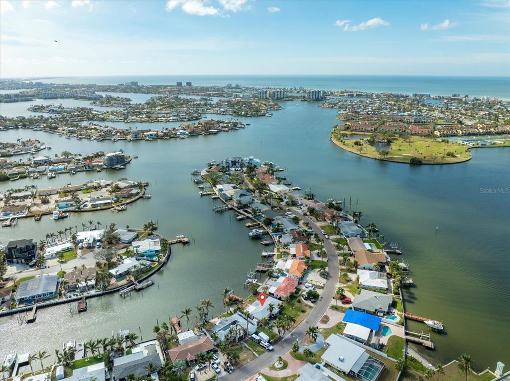
<svg viewBox="0 0 510 381">
<path fill-rule="evenodd" d="M 289 210 L 297 215 L 303 222 L 308 222 L 310 224 L 310 229 L 319 234 L 319 237 L 324 241 L 324 249 L 327 253 L 328 260 L 327 269 L 329 278 L 322 291 L 322 296 L 319 298 L 319 301 L 316 303 L 312 311 L 310 311 L 308 316 L 304 318 L 303 321 L 301 321 L 301 323 L 294 329 L 294 331 L 289 332 L 284 337 L 284 339 L 274 345 L 274 350 L 272 352 L 265 352 L 258 358 L 237 368 L 232 374 L 222 372 L 222 375 L 220 376 L 221 379 L 246 379 L 261 369 L 264 369 L 265 367 L 274 363 L 278 359 L 278 356 L 283 356 L 286 352 L 292 349 L 292 344 L 295 341 L 300 341 L 305 336 L 305 332 L 308 330 L 309 326 L 317 325 L 320 318 L 327 311 L 329 304 L 333 300 L 333 296 L 335 295 L 335 291 L 338 286 L 339 277 L 338 255 L 335 251 L 335 247 L 333 246 L 333 242 L 331 242 L 329 239 L 326 239 L 322 234 L 319 226 L 312 222 L 312 220 L 310 220 L 308 217 L 305 217 L 303 214 L 293 208 L 289 208 Z"/>
</svg>

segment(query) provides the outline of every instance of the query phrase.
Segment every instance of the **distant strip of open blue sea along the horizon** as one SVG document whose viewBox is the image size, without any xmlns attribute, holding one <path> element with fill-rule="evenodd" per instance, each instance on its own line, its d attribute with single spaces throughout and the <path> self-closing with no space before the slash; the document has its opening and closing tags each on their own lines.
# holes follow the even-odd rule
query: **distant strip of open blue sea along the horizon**
<svg viewBox="0 0 510 381">
<path fill-rule="evenodd" d="M 420 76 L 420 75 L 130 75 L 76 76 L 37 78 L 56 84 L 121 84 L 138 80 L 140 85 L 175 85 L 176 81 L 192 81 L 193 85 L 226 85 L 303 87 L 323 90 L 392 91 L 398 93 L 431 93 L 435 95 L 466 94 L 510 99 L 509 77 Z"/>
</svg>

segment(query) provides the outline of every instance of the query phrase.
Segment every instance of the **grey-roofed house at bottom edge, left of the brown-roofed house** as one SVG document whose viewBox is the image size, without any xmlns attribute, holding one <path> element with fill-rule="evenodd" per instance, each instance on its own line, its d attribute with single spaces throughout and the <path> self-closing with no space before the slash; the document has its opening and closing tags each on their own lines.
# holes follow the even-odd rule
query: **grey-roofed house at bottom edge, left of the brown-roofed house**
<svg viewBox="0 0 510 381">
<path fill-rule="evenodd" d="M 130 374 L 137 377 L 146 377 L 149 373 L 147 366 L 152 364 L 156 369 L 161 368 L 161 358 L 156 349 L 159 344 L 154 341 L 154 344 L 145 346 L 143 349 L 133 353 L 113 359 L 113 379 L 116 381 L 125 380 Z"/>
</svg>

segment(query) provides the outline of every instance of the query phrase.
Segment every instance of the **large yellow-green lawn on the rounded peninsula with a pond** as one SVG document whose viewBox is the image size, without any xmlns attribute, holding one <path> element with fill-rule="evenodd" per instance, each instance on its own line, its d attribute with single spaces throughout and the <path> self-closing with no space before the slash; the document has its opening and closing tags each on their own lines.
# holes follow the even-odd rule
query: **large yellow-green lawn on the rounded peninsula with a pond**
<svg viewBox="0 0 510 381">
<path fill-rule="evenodd" d="M 382 158 L 379 156 L 376 149 L 369 144 L 363 143 L 362 145 L 355 145 L 354 142 L 359 142 L 359 140 L 341 139 L 341 135 L 345 134 L 348 135 L 350 132 L 334 131 L 331 135 L 331 140 L 347 151 L 374 159 Z M 370 135 L 360 132 L 356 132 L 356 134 L 366 135 L 364 139 L 368 139 Z M 471 158 L 471 153 L 467 148 L 468 147 L 463 144 L 443 143 L 429 137 L 410 136 L 407 140 L 394 137 L 394 141 L 391 143 L 389 149 L 389 154 L 385 159 L 409 163 L 412 157 L 416 157 L 427 164 L 447 164 L 469 160 Z M 446 156 L 446 152 L 452 152 L 453 156 Z"/>
</svg>

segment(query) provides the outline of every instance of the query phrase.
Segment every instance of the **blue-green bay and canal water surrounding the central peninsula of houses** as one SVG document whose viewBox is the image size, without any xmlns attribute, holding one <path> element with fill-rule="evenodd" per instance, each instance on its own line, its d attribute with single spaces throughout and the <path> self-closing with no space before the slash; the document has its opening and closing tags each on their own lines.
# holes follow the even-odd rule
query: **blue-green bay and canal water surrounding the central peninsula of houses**
<svg viewBox="0 0 510 381">
<path fill-rule="evenodd" d="M 374 222 L 388 241 L 398 241 L 409 263 L 416 287 L 405 292 L 406 309 L 417 315 L 443 320 L 445 334 L 432 333 L 435 351 L 431 360 L 446 363 L 461 353 L 471 353 L 477 366 L 510 363 L 506 316 L 510 312 L 507 274 L 510 201 L 507 194 L 483 189 L 508 187 L 510 150 L 472 150 L 473 159 L 445 166 L 409 166 L 364 158 L 346 152 L 329 141 L 336 124 L 336 110 L 317 103 L 282 102 L 283 110 L 272 118 L 240 118 L 245 129 L 185 140 L 140 142 L 83 142 L 55 134 L 28 130 L 2 132 L 2 141 L 32 137 L 51 142 L 51 153 L 63 150 L 91 153 L 124 148 L 139 155 L 121 172 L 103 171 L 61 175 L 48 180 L 2 183 L 22 186 L 36 183 L 39 189 L 79 183 L 97 177 L 148 180 L 150 200 L 140 200 L 127 211 L 101 211 L 73 215 L 62 221 L 43 217 L 39 223 L 20 220 L 15 228 L 2 229 L 2 241 L 42 239 L 46 232 L 78 226 L 88 220 L 117 226 L 141 226 L 158 220 L 160 234 L 193 235 L 190 247 L 175 246 L 156 285 L 131 298 L 117 294 L 94 298 L 88 311 L 69 316 L 64 305 L 39 311 L 35 324 L 19 326 L 15 317 L 0 319 L 0 358 L 10 350 L 53 353 L 69 339 L 91 339 L 112 330 L 141 330 L 150 337 L 152 326 L 182 315 L 186 307 L 210 298 L 211 313 L 222 310 L 224 287 L 247 295 L 242 286 L 246 271 L 260 260 L 263 247 L 247 238 L 248 230 L 231 213 L 212 211 L 214 201 L 198 196 L 190 172 L 205 167 L 210 159 L 254 155 L 274 161 L 303 189 L 317 198 L 346 200 L 350 210 L 363 212 L 363 223 Z M 482 188 L 482 189 L 480 189 Z M 349 206 L 349 198 L 351 205 Z M 436 228 L 439 229 L 436 229 Z M 158 286 L 159 285 L 159 286 Z M 424 324 L 411 322 L 410 329 L 427 332 Z"/>
</svg>

